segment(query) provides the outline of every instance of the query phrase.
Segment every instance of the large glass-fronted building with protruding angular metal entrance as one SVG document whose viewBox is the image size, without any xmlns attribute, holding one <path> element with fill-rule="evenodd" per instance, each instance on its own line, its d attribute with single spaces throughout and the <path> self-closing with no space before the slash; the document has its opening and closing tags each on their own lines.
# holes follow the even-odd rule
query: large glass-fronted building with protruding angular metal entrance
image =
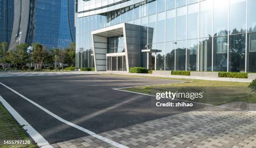
<svg viewBox="0 0 256 148">
<path fill-rule="evenodd" d="M 255 7 L 256 0 L 78 0 L 76 66 L 256 72 Z"/>
</svg>

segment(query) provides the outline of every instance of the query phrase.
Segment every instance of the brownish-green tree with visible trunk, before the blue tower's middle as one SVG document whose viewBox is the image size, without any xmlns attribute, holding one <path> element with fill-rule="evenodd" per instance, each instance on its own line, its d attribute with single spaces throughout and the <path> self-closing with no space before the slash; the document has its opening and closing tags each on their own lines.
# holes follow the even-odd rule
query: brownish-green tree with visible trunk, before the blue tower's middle
<svg viewBox="0 0 256 148">
<path fill-rule="evenodd" d="M 36 62 L 36 64 L 39 67 L 39 70 L 42 70 L 42 65 L 46 57 L 45 47 L 43 45 L 40 45 L 39 43 L 32 44 L 32 46 L 33 46 L 33 53 L 32 53 L 33 61 Z"/>
</svg>

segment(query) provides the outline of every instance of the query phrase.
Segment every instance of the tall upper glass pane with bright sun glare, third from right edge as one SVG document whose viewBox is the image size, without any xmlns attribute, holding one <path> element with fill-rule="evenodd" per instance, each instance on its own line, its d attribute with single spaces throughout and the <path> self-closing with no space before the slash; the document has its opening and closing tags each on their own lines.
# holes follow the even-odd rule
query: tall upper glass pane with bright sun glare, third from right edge
<svg viewBox="0 0 256 148">
<path fill-rule="evenodd" d="M 228 0 L 213 0 L 214 36 L 228 35 Z"/>
</svg>

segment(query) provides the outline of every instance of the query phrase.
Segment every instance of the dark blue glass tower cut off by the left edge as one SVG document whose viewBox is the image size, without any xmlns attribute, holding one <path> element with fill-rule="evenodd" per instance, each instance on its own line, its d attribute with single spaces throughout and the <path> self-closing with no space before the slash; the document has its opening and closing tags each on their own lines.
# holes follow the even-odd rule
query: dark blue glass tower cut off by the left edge
<svg viewBox="0 0 256 148">
<path fill-rule="evenodd" d="M 10 43 L 13 30 L 13 0 L 0 0 L 0 42 Z"/>
</svg>

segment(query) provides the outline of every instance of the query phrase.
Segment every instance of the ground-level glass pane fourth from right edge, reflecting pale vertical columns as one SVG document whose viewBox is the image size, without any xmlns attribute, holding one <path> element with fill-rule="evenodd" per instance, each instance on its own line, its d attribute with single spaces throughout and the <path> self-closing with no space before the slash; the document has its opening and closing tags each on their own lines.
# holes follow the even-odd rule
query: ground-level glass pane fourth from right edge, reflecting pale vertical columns
<svg viewBox="0 0 256 148">
<path fill-rule="evenodd" d="M 199 71 L 212 71 L 212 38 L 200 39 Z"/>
</svg>

